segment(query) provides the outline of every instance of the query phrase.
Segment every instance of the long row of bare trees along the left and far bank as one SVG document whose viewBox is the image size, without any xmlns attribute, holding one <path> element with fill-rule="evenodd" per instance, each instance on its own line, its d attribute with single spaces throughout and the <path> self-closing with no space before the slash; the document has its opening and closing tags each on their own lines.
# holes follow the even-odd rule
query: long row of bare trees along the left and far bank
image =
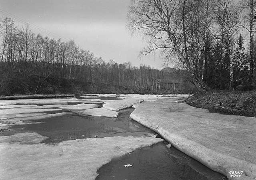
<svg viewBox="0 0 256 180">
<path fill-rule="evenodd" d="M 105 62 L 73 40 L 63 42 L 43 37 L 32 32 L 28 25 L 18 28 L 8 17 L 0 21 L 0 37 L 1 95 L 186 93 L 193 90 L 184 70 L 170 74 L 145 65 L 118 64 L 113 59 Z M 170 76 L 170 80 L 161 82 L 166 76 Z"/>
</svg>

